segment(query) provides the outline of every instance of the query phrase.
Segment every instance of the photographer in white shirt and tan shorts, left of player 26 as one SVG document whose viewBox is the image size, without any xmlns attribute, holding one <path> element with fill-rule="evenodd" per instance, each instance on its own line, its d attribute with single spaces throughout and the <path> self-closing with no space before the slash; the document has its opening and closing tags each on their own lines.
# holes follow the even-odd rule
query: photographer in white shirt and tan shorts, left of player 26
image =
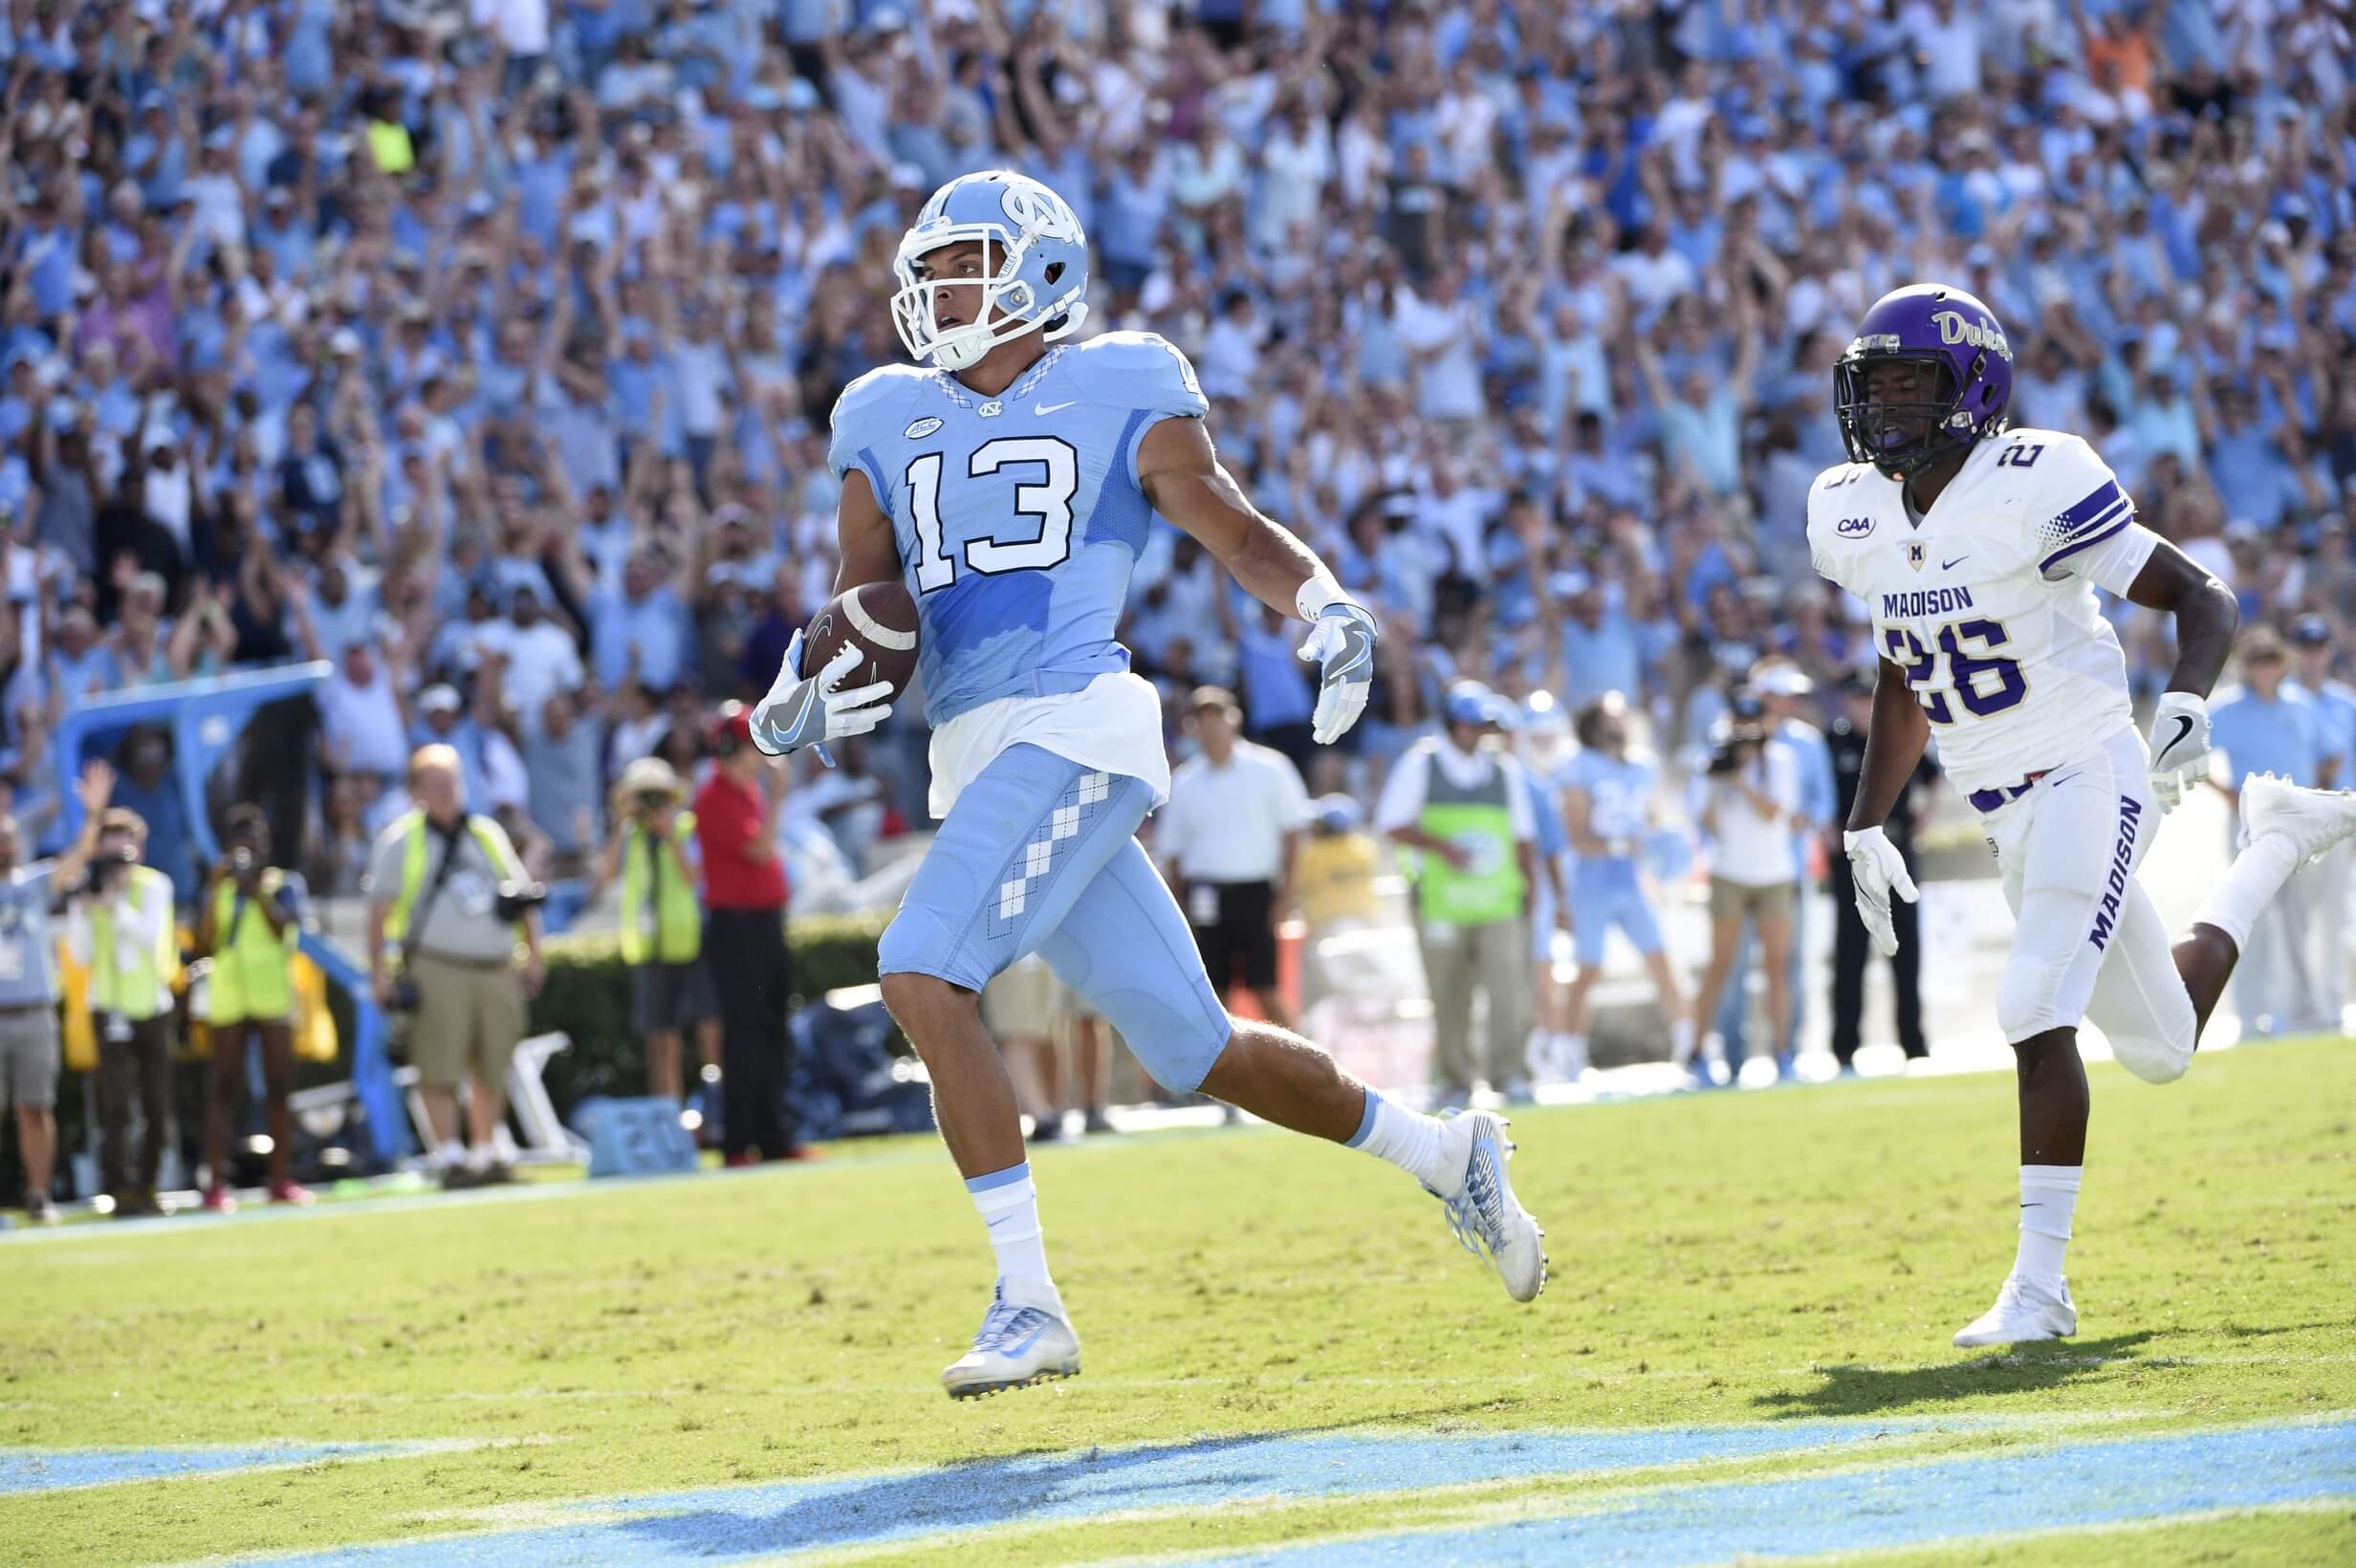
<svg viewBox="0 0 2356 1568">
<path fill-rule="evenodd" d="M 1710 749 L 1703 784 L 1701 829 L 1710 855 L 1710 968 L 1694 996 L 1694 1017 L 1718 1017 L 1743 939 L 1743 923 L 1758 935 L 1760 970 L 1767 977 L 1769 1041 L 1791 1034 L 1791 906 L 1800 885 L 1793 826 L 1800 822 L 1800 765 L 1767 730 L 1767 709 L 1755 692 L 1736 692 L 1727 727 Z M 1727 1045 L 1727 1041 L 1720 1041 Z M 1727 1083 L 1741 1059 L 1727 1062 Z"/>
</svg>

